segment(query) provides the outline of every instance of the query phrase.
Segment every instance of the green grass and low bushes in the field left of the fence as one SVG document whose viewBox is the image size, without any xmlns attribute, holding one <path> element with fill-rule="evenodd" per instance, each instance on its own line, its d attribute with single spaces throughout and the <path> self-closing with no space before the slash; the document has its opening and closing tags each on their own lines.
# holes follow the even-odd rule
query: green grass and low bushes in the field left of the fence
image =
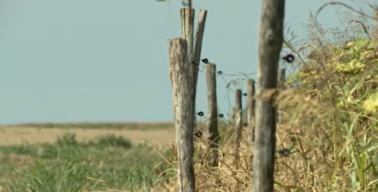
<svg viewBox="0 0 378 192">
<path fill-rule="evenodd" d="M 0 186 L 9 192 L 148 190 L 154 166 L 169 152 L 106 135 L 79 142 L 67 134 L 52 144 L 0 147 Z"/>
</svg>

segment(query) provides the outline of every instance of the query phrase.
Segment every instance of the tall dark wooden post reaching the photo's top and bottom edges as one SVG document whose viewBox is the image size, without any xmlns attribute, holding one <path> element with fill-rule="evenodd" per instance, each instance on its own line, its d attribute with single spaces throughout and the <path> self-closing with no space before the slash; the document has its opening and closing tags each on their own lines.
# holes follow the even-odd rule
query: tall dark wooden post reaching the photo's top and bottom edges
<svg viewBox="0 0 378 192">
<path fill-rule="evenodd" d="M 283 44 L 285 0 L 263 0 L 257 69 L 253 189 L 272 192 L 276 150 L 278 62 Z"/>
</svg>

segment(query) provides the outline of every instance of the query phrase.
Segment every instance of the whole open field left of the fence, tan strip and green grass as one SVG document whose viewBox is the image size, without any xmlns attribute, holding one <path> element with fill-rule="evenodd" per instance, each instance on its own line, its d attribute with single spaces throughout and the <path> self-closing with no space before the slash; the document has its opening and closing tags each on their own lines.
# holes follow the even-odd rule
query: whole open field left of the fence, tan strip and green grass
<svg viewBox="0 0 378 192">
<path fill-rule="evenodd" d="M 93 125 L 1 127 L 0 191 L 133 190 L 158 182 L 153 168 L 174 141 L 172 126 Z"/>
</svg>

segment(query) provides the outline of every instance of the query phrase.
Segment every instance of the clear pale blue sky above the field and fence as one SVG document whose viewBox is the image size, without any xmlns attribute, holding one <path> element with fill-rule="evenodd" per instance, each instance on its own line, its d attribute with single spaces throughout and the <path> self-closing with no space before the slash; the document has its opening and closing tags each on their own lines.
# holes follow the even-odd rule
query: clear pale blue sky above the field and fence
<svg viewBox="0 0 378 192">
<path fill-rule="evenodd" d="M 326 2 L 286 1 L 285 24 L 306 38 L 308 12 Z M 202 58 L 224 73 L 255 72 L 261 3 L 194 0 L 196 17 L 208 10 Z M 0 0 L 0 124 L 172 121 L 168 39 L 181 34 L 180 8 L 178 0 Z M 318 20 L 335 27 L 341 10 L 326 7 Z M 197 110 L 206 112 L 199 76 Z M 233 93 L 218 79 L 226 114 Z"/>
</svg>

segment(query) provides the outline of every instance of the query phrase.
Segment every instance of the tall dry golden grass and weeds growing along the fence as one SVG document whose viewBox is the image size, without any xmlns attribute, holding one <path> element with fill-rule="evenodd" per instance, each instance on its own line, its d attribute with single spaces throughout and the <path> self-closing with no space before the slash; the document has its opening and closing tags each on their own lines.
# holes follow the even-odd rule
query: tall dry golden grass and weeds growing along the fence
<svg viewBox="0 0 378 192">
<path fill-rule="evenodd" d="M 310 20 L 315 20 L 311 14 Z M 365 36 L 341 46 L 324 39 L 319 25 L 309 25 L 323 37 L 314 36 L 298 49 L 311 48 L 307 59 L 286 42 L 299 67 L 287 81 L 291 88 L 276 98 L 285 120 L 278 125 L 277 150 L 291 152 L 287 157 L 277 153 L 276 191 L 378 190 L 378 99 L 371 98 L 378 91 L 378 19 L 370 27 L 355 23 L 363 26 Z M 196 160 L 197 191 L 251 191 L 253 146 L 244 141 L 238 166 L 232 142 L 222 143 L 225 156 L 219 167 Z M 165 179 L 164 189 L 155 191 L 176 191 L 176 179 Z"/>
</svg>

